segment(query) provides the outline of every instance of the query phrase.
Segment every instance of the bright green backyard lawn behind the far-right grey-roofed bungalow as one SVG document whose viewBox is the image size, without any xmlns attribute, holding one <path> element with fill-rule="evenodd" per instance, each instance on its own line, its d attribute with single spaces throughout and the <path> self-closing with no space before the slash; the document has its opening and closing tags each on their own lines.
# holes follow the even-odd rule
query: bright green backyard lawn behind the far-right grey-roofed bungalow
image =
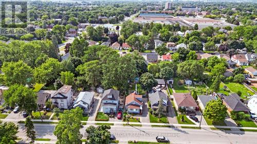
<svg viewBox="0 0 257 144">
<path fill-rule="evenodd" d="M 248 90 L 244 85 L 242 85 L 242 84 L 238 84 L 238 83 L 228 83 L 228 82 L 226 82 L 226 83 L 224 83 L 229 89 L 230 89 L 230 91 L 231 92 L 233 92 L 233 93 L 236 93 L 237 91 L 241 91 L 242 92 L 242 95 L 241 95 L 241 97 L 243 98 L 243 99 L 248 99 L 248 98 L 246 98 L 245 96 L 248 96 L 248 93 L 250 94 L 250 95 L 253 95 L 254 93 L 253 92 L 251 92 L 250 90 Z"/>
</svg>

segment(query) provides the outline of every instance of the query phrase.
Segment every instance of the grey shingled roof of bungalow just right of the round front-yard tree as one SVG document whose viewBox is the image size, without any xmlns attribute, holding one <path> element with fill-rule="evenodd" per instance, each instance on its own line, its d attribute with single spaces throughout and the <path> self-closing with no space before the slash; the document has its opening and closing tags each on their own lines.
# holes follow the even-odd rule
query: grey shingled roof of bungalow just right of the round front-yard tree
<svg viewBox="0 0 257 144">
<path fill-rule="evenodd" d="M 235 99 L 232 96 L 226 96 L 223 99 L 224 102 L 233 110 L 233 111 L 250 111 L 242 101 Z"/>
</svg>

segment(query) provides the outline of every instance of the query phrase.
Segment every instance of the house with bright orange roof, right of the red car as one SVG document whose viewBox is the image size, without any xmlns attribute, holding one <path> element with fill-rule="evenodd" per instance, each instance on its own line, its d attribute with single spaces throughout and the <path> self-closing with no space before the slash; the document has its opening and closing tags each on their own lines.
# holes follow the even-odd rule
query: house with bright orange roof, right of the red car
<svg viewBox="0 0 257 144">
<path fill-rule="evenodd" d="M 137 95 L 134 92 L 126 96 L 125 108 L 127 113 L 141 114 L 143 109 L 142 95 Z"/>
</svg>

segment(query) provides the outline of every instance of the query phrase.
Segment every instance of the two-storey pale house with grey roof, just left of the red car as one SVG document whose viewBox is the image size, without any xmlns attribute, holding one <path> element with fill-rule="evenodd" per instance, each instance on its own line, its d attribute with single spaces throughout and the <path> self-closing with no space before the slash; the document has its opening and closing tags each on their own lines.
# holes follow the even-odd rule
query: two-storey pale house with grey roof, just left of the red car
<svg viewBox="0 0 257 144">
<path fill-rule="evenodd" d="M 108 89 L 103 92 L 102 108 L 104 113 L 116 113 L 119 108 L 119 94 L 120 91 Z"/>
</svg>

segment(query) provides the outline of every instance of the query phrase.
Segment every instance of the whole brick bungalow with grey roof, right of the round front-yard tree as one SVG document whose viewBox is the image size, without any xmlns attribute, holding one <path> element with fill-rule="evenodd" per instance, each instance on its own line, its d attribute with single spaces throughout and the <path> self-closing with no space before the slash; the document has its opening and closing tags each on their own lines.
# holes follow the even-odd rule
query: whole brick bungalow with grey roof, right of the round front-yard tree
<svg viewBox="0 0 257 144">
<path fill-rule="evenodd" d="M 224 96 L 223 105 L 227 107 L 227 111 L 230 113 L 231 111 L 237 112 L 248 112 L 249 108 L 245 106 L 245 104 L 238 98 L 233 95 Z"/>
</svg>

